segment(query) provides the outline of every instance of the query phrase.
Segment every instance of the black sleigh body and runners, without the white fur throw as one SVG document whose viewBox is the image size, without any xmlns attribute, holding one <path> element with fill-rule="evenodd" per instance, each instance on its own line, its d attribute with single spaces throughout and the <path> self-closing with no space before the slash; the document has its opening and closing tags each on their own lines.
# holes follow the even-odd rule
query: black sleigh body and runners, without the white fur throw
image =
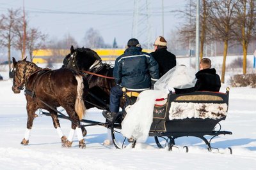
<svg viewBox="0 0 256 170">
<path fill-rule="evenodd" d="M 168 94 L 167 102 L 161 106 L 155 106 L 154 119 L 150 127 L 149 136 L 155 138 L 156 145 L 159 148 L 164 148 L 168 145 L 168 150 L 172 150 L 175 147 L 175 139 L 184 136 L 193 136 L 200 138 L 204 141 L 209 152 L 212 151 L 211 141 L 216 136 L 221 134 L 232 134 L 230 131 L 221 131 L 221 120 L 225 120 L 226 115 L 222 115 L 220 118 L 183 118 L 183 119 L 169 119 L 169 110 L 172 106 L 172 102 L 175 103 L 202 103 L 202 104 L 227 104 L 228 110 L 228 98 L 229 88 L 225 93 L 221 92 L 193 92 L 189 94 Z M 120 129 L 120 124 L 116 122 L 113 124 L 113 143 L 116 148 L 124 148 L 115 141 L 115 129 Z M 212 136 L 211 139 L 205 138 L 205 136 Z M 162 142 L 160 142 L 160 139 Z M 125 139 L 124 139 L 125 140 Z M 165 142 L 163 142 L 165 141 Z M 130 141 L 131 142 L 131 141 Z M 163 144 L 164 143 L 164 144 Z M 124 143 L 123 143 L 124 144 Z M 136 141 L 132 141 L 132 147 L 136 145 Z M 186 152 L 188 152 L 188 146 Z M 218 148 L 214 148 L 217 149 Z M 231 148 L 228 148 L 232 153 Z"/>
</svg>

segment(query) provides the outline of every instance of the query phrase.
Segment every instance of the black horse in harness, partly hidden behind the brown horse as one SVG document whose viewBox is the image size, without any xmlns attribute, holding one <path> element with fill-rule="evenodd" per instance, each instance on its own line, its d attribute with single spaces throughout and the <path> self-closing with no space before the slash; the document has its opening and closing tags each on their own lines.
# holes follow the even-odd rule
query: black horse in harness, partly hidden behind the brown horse
<svg viewBox="0 0 256 170">
<path fill-rule="evenodd" d="M 97 107 L 108 110 L 109 92 L 115 85 L 113 68 L 102 63 L 99 55 L 90 48 L 70 48 L 70 53 L 63 60 L 63 67 L 83 71 L 89 83 L 89 95 L 86 108 Z M 86 72 L 84 72 L 86 71 Z"/>
</svg>

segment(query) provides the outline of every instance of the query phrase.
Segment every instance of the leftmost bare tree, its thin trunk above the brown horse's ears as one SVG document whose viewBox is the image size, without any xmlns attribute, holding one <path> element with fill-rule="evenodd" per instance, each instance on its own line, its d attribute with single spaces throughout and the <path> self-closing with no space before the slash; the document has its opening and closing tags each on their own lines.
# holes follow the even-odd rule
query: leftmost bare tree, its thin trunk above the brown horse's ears
<svg viewBox="0 0 256 170">
<path fill-rule="evenodd" d="M 8 49 L 8 64 L 11 69 L 11 47 L 13 45 L 14 27 L 20 17 L 20 10 L 8 10 L 6 15 L 1 15 L 0 39 L 1 46 Z"/>
</svg>

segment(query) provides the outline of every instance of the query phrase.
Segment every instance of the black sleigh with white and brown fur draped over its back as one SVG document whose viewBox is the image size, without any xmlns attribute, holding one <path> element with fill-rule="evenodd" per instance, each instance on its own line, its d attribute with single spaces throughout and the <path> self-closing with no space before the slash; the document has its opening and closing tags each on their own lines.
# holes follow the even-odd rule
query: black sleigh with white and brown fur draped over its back
<svg viewBox="0 0 256 170">
<path fill-rule="evenodd" d="M 209 152 L 212 149 L 211 141 L 221 134 L 232 134 L 230 131 L 221 131 L 221 120 L 225 120 L 228 111 L 229 88 L 225 93 L 221 92 L 192 92 L 188 94 L 169 93 L 166 99 L 158 99 L 154 106 L 153 122 L 148 136 L 155 138 L 159 148 L 168 146 L 172 150 L 175 139 L 184 136 L 193 136 L 204 141 Z M 136 100 L 136 97 L 127 97 L 127 101 Z M 161 103 L 161 104 L 159 104 Z M 126 139 L 120 133 L 122 127 L 120 120 L 113 124 L 112 138 L 116 148 L 124 148 L 136 140 Z M 205 136 L 212 136 L 211 139 Z M 188 152 L 188 146 L 184 146 Z M 232 149 L 228 148 L 230 154 Z"/>
</svg>

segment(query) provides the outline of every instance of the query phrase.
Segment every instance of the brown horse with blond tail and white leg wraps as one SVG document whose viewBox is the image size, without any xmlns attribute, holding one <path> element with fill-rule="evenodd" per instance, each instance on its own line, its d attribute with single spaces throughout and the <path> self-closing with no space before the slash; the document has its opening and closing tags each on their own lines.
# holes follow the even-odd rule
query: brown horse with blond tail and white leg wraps
<svg viewBox="0 0 256 170">
<path fill-rule="evenodd" d="M 83 76 L 72 69 L 42 69 L 33 62 L 13 58 L 13 86 L 14 93 L 20 93 L 25 87 L 27 100 L 27 130 L 22 139 L 22 145 L 28 145 L 29 134 L 35 118 L 35 111 L 38 108 L 49 111 L 53 125 L 61 138 L 64 147 L 72 145 L 74 132 L 76 131 L 79 139 L 79 148 L 85 148 L 80 122 L 83 118 L 84 106 L 83 99 L 88 93 L 88 82 Z M 57 117 L 56 108 L 62 106 L 72 121 L 72 129 L 68 138 L 63 134 Z"/>
</svg>

